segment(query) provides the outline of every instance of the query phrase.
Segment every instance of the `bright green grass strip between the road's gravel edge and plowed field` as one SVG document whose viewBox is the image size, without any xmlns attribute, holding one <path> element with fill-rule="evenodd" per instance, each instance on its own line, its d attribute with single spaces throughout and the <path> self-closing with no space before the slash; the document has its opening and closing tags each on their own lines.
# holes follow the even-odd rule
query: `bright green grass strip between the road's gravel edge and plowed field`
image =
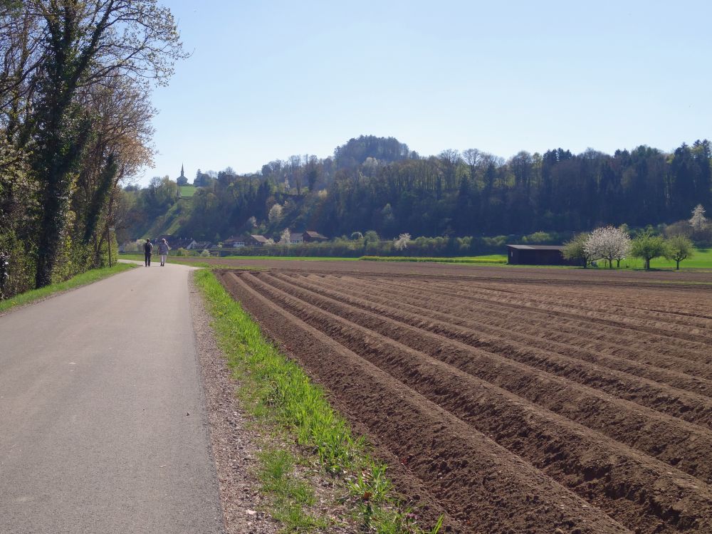
<svg viewBox="0 0 712 534">
<path fill-rule="evenodd" d="M 269 431 L 292 436 L 329 476 L 340 479 L 349 493 L 347 506 L 366 532 L 421 534 L 439 532 L 442 519 L 424 531 L 409 510 L 397 502 L 385 476 L 386 466 L 371 458 L 364 440 L 352 435 L 345 419 L 333 411 L 323 391 L 295 363 L 265 340 L 258 325 L 233 300 L 211 271 L 195 274 L 219 347 L 241 386 L 239 394 L 259 424 Z M 263 489 L 275 501 L 273 515 L 288 532 L 326 528 L 324 519 L 310 515 L 311 493 L 288 474 L 295 459 L 268 449 L 261 459 Z M 307 459 L 307 461 L 310 461 Z M 281 493 L 286 488 L 286 494 Z M 276 513 L 275 513 L 276 511 Z"/>
</svg>

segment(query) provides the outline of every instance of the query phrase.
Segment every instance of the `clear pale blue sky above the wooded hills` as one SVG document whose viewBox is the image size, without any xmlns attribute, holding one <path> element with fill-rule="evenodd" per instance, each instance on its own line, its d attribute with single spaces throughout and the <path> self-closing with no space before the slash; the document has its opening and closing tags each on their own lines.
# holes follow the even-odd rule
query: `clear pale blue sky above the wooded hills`
<svg viewBox="0 0 712 534">
<path fill-rule="evenodd" d="M 712 137 L 706 1 L 165 0 L 152 176 L 253 172 L 361 134 L 421 155 L 672 150 Z"/>
</svg>

